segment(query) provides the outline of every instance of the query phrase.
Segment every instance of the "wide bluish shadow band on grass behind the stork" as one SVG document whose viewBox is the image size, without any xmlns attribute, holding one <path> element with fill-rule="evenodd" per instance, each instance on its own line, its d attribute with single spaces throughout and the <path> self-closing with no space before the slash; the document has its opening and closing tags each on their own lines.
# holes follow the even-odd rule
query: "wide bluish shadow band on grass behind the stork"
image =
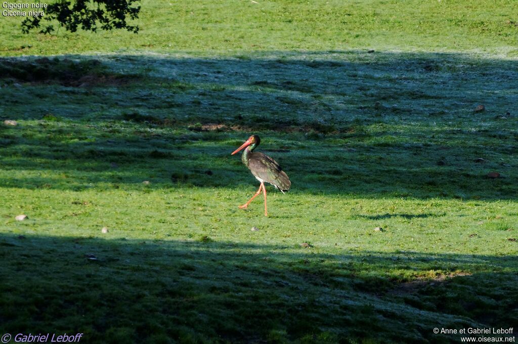
<svg viewBox="0 0 518 344">
<path fill-rule="evenodd" d="M 151 179 L 150 188 L 253 189 L 229 153 L 257 133 L 259 149 L 303 192 L 518 194 L 518 123 L 505 114 L 518 102 L 514 61 L 330 51 L 0 62 L 0 116 L 21 121 L 0 126 L 0 187 L 132 188 Z M 487 110 L 473 113 L 480 103 Z M 488 179 L 490 171 L 506 178 Z"/>
</svg>

